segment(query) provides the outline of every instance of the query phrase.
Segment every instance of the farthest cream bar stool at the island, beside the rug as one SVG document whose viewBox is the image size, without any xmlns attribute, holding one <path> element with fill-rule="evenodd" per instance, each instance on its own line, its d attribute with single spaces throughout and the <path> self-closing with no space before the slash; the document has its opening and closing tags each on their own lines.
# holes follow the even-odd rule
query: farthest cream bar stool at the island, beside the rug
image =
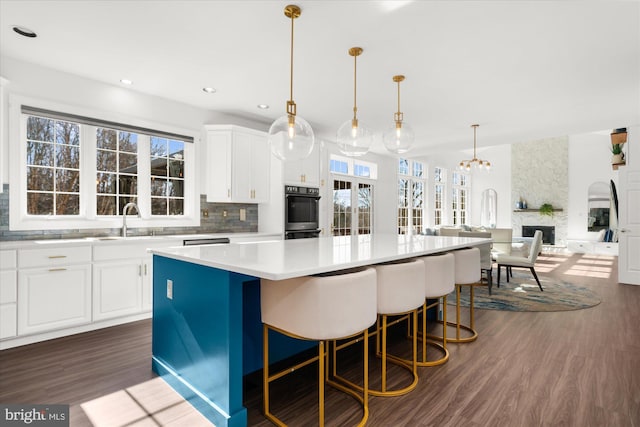
<svg viewBox="0 0 640 427">
<path fill-rule="evenodd" d="M 449 325 L 456 327 L 456 337 L 447 338 L 446 341 L 457 343 L 471 342 L 478 338 L 473 316 L 473 290 L 475 286 L 483 285 L 481 282 L 480 249 L 460 249 L 452 253 L 455 257 L 456 323 L 449 323 Z M 469 325 L 463 325 L 460 320 L 460 293 L 463 286 L 469 286 Z M 461 338 L 460 329 L 470 332 L 471 335 Z"/>
</svg>

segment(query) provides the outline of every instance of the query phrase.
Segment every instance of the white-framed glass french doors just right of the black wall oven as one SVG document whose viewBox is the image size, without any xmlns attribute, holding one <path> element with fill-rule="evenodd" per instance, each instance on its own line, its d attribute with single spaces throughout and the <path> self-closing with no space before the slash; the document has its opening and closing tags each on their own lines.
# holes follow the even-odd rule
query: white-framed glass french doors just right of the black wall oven
<svg viewBox="0 0 640 427">
<path fill-rule="evenodd" d="M 372 184 L 356 179 L 334 179 L 332 196 L 332 235 L 371 234 L 373 230 Z"/>
</svg>

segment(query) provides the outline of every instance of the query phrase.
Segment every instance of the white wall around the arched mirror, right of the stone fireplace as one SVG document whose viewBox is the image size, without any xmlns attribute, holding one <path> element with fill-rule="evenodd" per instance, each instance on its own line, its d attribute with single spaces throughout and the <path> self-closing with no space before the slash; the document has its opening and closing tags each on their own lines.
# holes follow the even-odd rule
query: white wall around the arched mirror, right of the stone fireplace
<svg viewBox="0 0 640 427">
<path fill-rule="evenodd" d="M 569 137 L 568 239 L 596 240 L 597 232 L 587 231 L 588 192 L 594 182 L 618 185 L 618 171 L 611 167 L 610 131 Z"/>
</svg>

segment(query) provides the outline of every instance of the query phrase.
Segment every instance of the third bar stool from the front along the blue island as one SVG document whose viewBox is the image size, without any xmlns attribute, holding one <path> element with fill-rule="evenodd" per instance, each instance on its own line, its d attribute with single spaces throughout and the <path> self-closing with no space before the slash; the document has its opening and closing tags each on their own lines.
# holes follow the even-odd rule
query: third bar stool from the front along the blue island
<svg viewBox="0 0 640 427">
<path fill-rule="evenodd" d="M 443 255 L 432 255 L 420 258 L 424 263 L 425 270 L 425 300 L 422 307 L 422 359 L 418 361 L 418 366 L 437 366 L 449 360 L 449 350 L 447 350 L 447 295 L 455 288 L 455 256 L 452 253 Z M 435 299 L 435 302 L 428 304 L 427 300 Z M 442 336 L 427 334 L 427 312 L 433 307 L 440 305 L 442 301 Z M 429 338 L 429 339 L 428 339 Z M 440 342 L 435 342 L 433 340 Z M 427 361 L 427 344 L 438 348 L 443 354 L 442 357 Z"/>
</svg>

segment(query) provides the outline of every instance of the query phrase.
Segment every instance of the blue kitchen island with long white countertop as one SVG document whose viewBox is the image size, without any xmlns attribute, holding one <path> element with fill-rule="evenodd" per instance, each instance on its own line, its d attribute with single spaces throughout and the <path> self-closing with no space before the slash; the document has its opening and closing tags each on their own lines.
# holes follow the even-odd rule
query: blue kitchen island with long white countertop
<svg viewBox="0 0 640 427">
<path fill-rule="evenodd" d="M 153 370 L 216 426 L 247 425 L 242 378 L 262 368 L 261 278 L 283 280 L 477 246 L 376 234 L 154 249 Z M 273 346 L 281 359 L 314 343 Z"/>
</svg>

